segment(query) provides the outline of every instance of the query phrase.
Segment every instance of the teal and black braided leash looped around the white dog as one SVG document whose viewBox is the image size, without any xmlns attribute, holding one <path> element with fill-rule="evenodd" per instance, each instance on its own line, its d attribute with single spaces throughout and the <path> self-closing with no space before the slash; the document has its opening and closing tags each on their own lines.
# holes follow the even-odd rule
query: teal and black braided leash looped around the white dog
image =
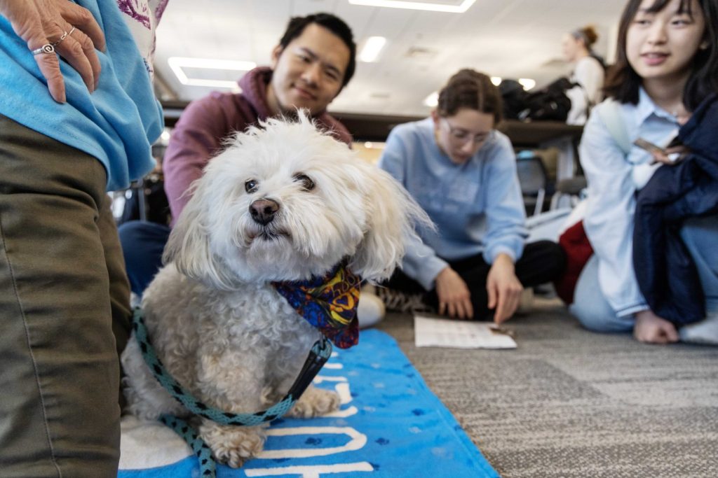
<svg viewBox="0 0 718 478">
<path fill-rule="evenodd" d="M 317 376 L 317 373 L 327 362 L 330 355 L 332 355 L 332 344 L 322 335 L 320 340 L 317 340 L 317 342 L 312 345 L 312 350 L 309 351 L 307 360 L 304 362 L 304 366 L 297 380 L 294 381 L 292 387 L 289 388 L 289 392 L 286 393 L 286 396 L 284 396 L 279 403 L 267 408 L 265 411 L 258 411 L 255 414 L 231 414 L 198 401 L 197 398 L 192 396 L 190 391 L 187 391 L 185 387 L 174 380 L 167 371 L 167 368 L 162 364 L 162 360 L 159 360 L 159 357 L 157 357 L 157 353 L 155 353 L 154 348 L 149 342 L 143 317 L 144 312 L 140 307 L 136 307 L 132 317 L 132 328 L 134 329 L 135 340 L 137 340 L 139 344 L 144 361 L 154 378 L 162 384 L 164 389 L 172 395 L 175 400 L 182 403 L 182 406 L 185 406 L 192 414 L 210 419 L 220 425 L 253 426 L 278 419 L 280 416 L 286 414 L 289 408 L 292 408 L 294 403 L 302 396 L 302 393 L 307 390 L 309 383 L 312 383 L 312 380 Z M 182 436 L 182 438 L 187 441 L 187 444 L 192 447 L 192 450 L 197 454 L 197 458 L 200 459 L 201 476 L 215 477 L 215 462 L 212 458 L 212 452 L 195 429 L 186 421 L 177 419 L 177 417 L 171 415 L 163 415 L 159 420 Z"/>
</svg>

